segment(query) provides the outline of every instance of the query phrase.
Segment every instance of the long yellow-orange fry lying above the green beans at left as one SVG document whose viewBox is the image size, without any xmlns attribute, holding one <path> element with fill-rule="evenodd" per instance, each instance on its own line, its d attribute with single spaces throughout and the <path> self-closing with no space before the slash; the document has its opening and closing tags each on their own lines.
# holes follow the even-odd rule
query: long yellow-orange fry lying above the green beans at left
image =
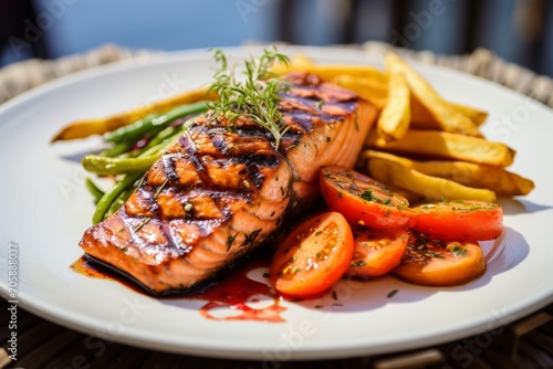
<svg viewBox="0 0 553 369">
<path fill-rule="evenodd" d="M 76 120 L 63 127 L 53 138 L 52 143 L 75 138 L 85 138 L 92 135 L 103 135 L 106 131 L 127 126 L 149 114 L 169 110 L 182 104 L 197 103 L 204 99 L 215 99 L 215 93 L 207 95 L 207 89 L 192 89 L 173 97 L 140 106 L 133 110 L 124 112 L 102 119 Z"/>
</svg>

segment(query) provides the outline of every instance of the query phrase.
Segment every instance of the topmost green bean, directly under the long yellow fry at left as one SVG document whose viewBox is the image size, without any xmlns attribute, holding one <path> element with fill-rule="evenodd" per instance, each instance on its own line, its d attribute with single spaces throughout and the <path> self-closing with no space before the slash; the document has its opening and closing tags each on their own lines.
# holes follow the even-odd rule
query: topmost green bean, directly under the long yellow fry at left
<svg viewBox="0 0 553 369">
<path fill-rule="evenodd" d="M 144 119 L 135 122 L 132 125 L 108 131 L 104 135 L 104 139 L 108 143 L 136 143 L 146 133 L 156 130 L 159 131 L 178 118 L 186 117 L 191 114 L 204 113 L 206 110 L 206 102 L 182 105 L 163 115 L 150 115 Z"/>
</svg>

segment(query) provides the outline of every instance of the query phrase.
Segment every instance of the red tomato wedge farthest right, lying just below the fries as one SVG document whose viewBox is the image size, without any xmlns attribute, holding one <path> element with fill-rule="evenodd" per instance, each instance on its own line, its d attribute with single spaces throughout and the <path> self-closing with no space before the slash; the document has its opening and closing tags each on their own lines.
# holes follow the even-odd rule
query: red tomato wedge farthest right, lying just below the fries
<svg viewBox="0 0 553 369">
<path fill-rule="evenodd" d="M 503 231 L 503 211 L 497 203 L 458 200 L 413 208 L 414 230 L 445 240 L 494 240 Z"/>
</svg>

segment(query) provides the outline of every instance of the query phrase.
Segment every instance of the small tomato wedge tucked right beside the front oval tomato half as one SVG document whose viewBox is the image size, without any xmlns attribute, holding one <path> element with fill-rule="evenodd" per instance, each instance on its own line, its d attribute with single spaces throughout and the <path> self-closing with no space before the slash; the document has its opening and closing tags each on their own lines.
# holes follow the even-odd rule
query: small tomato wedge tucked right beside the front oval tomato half
<svg viewBox="0 0 553 369">
<path fill-rule="evenodd" d="M 409 233 L 404 229 L 354 229 L 353 261 L 345 275 L 373 278 L 394 270 L 407 250 Z"/>
</svg>

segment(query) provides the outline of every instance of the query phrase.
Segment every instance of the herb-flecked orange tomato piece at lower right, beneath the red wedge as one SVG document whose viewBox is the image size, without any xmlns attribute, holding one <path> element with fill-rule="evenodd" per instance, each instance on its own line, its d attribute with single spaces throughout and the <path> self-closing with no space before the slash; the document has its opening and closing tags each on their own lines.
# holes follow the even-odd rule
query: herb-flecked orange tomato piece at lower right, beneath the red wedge
<svg viewBox="0 0 553 369">
<path fill-rule="evenodd" d="M 415 284 L 451 286 L 469 282 L 484 271 L 484 256 L 477 243 L 444 241 L 413 232 L 407 252 L 393 272 Z"/>
</svg>

